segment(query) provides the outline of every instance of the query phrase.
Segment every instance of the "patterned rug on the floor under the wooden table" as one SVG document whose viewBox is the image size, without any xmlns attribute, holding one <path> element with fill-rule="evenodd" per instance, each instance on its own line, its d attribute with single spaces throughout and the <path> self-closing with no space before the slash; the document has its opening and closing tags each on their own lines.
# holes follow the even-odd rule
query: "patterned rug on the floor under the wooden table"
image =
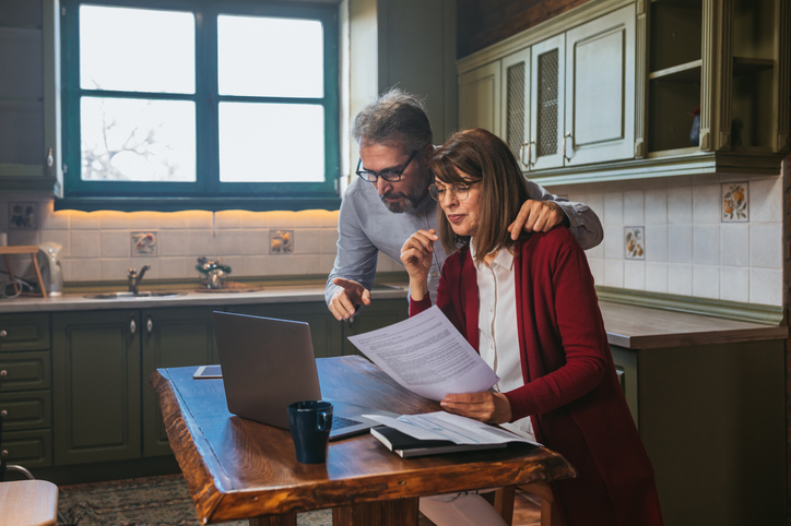
<svg viewBox="0 0 791 526">
<path fill-rule="evenodd" d="M 58 526 L 199 526 L 180 475 L 61 486 Z M 247 526 L 247 521 L 222 523 Z M 300 513 L 299 526 L 331 526 L 329 510 Z"/>
</svg>

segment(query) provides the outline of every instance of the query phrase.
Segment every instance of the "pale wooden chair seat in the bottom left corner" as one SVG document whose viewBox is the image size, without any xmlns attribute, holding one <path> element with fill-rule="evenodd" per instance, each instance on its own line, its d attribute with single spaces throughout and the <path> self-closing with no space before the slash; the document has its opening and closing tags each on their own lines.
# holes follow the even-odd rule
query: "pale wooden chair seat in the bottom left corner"
<svg viewBox="0 0 791 526">
<path fill-rule="evenodd" d="M 56 526 L 58 487 L 46 480 L 0 482 L 0 525 Z"/>
</svg>

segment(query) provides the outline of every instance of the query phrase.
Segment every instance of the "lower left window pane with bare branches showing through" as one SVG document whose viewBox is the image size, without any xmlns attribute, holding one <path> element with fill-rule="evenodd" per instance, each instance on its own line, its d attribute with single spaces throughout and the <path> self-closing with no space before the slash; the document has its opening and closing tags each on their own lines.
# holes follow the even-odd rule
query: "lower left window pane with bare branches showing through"
<svg viewBox="0 0 791 526">
<path fill-rule="evenodd" d="M 196 180 L 193 103 L 83 97 L 80 122 L 83 180 Z"/>
</svg>

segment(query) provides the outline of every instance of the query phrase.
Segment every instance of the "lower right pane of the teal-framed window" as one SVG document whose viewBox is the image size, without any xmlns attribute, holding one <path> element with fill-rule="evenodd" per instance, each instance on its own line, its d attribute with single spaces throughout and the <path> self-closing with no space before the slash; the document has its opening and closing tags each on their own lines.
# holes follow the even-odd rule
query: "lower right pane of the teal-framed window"
<svg viewBox="0 0 791 526">
<path fill-rule="evenodd" d="M 222 182 L 324 180 L 324 108 L 220 104 Z"/>
</svg>

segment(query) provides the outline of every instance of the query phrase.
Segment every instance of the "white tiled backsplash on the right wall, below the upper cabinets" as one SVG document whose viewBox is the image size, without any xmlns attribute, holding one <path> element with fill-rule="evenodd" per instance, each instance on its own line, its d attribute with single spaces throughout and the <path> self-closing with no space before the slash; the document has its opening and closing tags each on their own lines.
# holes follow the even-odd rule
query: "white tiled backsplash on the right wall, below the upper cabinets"
<svg viewBox="0 0 791 526">
<path fill-rule="evenodd" d="M 604 241 L 587 252 L 599 285 L 783 304 L 780 176 L 701 175 L 550 190 L 599 215 Z M 724 199 L 729 192 L 736 199 Z M 740 199 L 743 214 L 734 214 Z"/>
</svg>

